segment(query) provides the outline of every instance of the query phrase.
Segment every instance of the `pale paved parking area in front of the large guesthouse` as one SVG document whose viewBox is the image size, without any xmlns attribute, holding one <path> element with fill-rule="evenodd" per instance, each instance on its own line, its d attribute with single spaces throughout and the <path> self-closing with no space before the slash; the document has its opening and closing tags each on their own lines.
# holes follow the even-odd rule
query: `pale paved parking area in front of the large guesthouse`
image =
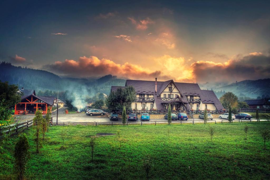
<svg viewBox="0 0 270 180">
<path fill-rule="evenodd" d="M 215 120 L 217 123 L 221 123 L 222 120 L 224 120 L 223 122 L 228 122 L 225 119 L 220 119 L 220 118 L 214 118 L 213 120 Z M 98 122 L 98 123 L 102 123 L 102 122 L 109 122 L 110 119 L 107 116 L 87 116 L 84 113 L 79 113 L 79 114 L 63 114 L 58 116 L 58 122 L 76 122 L 76 123 L 85 123 L 85 122 Z M 153 121 L 162 121 L 162 122 L 167 122 L 166 119 L 150 119 L 150 122 Z M 188 121 L 183 120 L 182 123 L 192 123 L 191 121 L 193 121 L 192 119 L 188 119 Z M 203 123 L 204 120 L 203 119 L 199 119 L 199 118 L 194 118 L 194 121 L 196 121 L 195 123 Z M 238 122 L 238 119 L 233 120 L 233 122 Z M 240 119 L 241 121 L 241 119 Z M 242 121 L 250 121 L 250 120 L 244 120 L 242 119 Z M 256 119 L 251 119 L 251 121 L 257 121 Z M 56 122 L 56 116 L 53 116 L 53 122 Z M 122 122 L 122 120 L 119 121 L 110 121 L 110 122 Z M 128 121 L 128 122 L 134 122 L 134 121 Z M 137 122 L 141 122 L 140 119 L 138 119 Z M 147 121 L 143 121 L 143 122 L 147 122 Z M 162 123 L 162 122 L 158 122 L 158 123 Z M 174 122 L 178 122 L 180 123 L 180 120 L 177 121 L 173 121 Z M 210 121 L 211 122 L 211 121 Z M 214 121 L 212 121 L 214 122 Z"/>
</svg>

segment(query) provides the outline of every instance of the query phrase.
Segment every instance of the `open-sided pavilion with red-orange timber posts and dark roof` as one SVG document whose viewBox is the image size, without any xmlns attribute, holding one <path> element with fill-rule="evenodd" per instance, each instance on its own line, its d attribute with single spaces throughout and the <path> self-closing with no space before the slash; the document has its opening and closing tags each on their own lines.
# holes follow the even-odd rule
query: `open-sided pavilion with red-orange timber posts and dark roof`
<svg viewBox="0 0 270 180">
<path fill-rule="evenodd" d="M 56 102 L 55 97 L 36 96 L 34 89 L 22 88 L 18 93 L 21 95 L 21 102 L 15 105 L 15 115 L 34 114 L 37 109 L 42 110 L 42 114 L 46 114 L 48 108 L 52 110 L 52 105 Z"/>
</svg>

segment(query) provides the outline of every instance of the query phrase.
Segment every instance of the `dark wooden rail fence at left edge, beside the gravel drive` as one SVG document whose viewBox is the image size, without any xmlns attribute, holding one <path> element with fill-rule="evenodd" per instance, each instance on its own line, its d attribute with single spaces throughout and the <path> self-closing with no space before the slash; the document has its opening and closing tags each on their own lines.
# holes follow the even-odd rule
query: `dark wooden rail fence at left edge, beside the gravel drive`
<svg viewBox="0 0 270 180">
<path fill-rule="evenodd" d="M 0 127 L 0 136 L 3 134 L 10 134 L 10 136 L 14 136 L 19 132 L 22 132 L 33 125 L 33 120 L 29 120 L 23 123 L 10 125 L 8 127 Z"/>
</svg>

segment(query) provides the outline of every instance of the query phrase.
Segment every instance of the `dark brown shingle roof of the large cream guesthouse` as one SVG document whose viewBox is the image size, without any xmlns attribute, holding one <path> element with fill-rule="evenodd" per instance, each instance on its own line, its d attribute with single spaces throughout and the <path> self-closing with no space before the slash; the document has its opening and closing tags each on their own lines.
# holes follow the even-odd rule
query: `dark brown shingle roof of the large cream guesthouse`
<svg viewBox="0 0 270 180">
<path fill-rule="evenodd" d="M 157 81 L 157 93 L 155 93 L 156 81 L 143 81 L 143 80 L 126 80 L 126 86 L 133 86 L 137 93 L 149 93 L 153 94 L 158 110 L 163 110 L 161 97 L 158 96 L 162 91 L 168 86 L 168 84 L 173 80 L 168 81 Z M 174 81 L 173 81 L 174 82 Z M 203 103 L 214 103 L 217 110 L 224 109 L 214 91 L 211 90 L 201 90 L 197 83 L 177 83 L 174 82 L 180 93 L 184 96 L 181 97 L 183 103 L 187 103 L 186 96 L 194 95 L 200 96 Z M 124 86 L 112 86 L 111 91 L 116 91 L 117 88 L 125 88 Z M 190 110 L 190 106 L 187 106 Z"/>
</svg>

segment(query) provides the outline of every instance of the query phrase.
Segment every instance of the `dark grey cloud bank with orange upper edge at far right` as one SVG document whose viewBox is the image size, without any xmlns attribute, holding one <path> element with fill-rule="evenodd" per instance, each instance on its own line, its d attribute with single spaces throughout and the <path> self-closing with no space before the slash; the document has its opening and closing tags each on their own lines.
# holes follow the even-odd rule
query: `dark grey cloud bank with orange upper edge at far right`
<svg viewBox="0 0 270 180">
<path fill-rule="evenodd" d="M 246 79 L 270 77 L 270 56 L 262 53 L 249 53 L 225 63 L 197 61 L 191 64 L 191 70 L 198 82 L 235 82 Z"/>
</svg>

